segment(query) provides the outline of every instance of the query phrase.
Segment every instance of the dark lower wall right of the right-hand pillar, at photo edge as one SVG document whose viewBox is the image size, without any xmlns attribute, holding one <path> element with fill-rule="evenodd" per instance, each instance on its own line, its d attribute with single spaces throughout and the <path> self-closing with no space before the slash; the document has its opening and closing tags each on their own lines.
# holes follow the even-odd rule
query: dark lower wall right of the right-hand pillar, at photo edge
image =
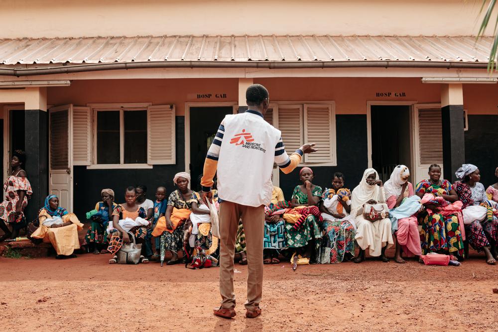
<svg viewBox="0 0 498 332">
<path fill-rule="evenodd" d="M 495 177 L 498 167 L 498 115 L 468 115 L 468 122 L 465 163 L 479 167 L 481 182 L 488 188 L 498 181 Z"/>
</svg>

